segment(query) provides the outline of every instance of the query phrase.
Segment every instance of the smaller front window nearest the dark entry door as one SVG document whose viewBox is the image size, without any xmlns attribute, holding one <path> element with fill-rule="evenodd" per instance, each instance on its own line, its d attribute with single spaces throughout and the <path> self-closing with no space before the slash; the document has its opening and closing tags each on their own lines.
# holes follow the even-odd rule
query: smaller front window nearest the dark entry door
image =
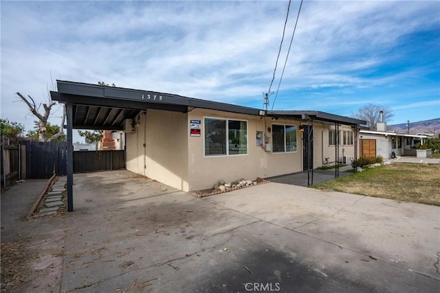
<svg viewBox="0 0 440 293">
<path fill-rule="evenodd" d="M 272 124 L 273 152 L 296 152 L 296 126 Z"/>
</svg>

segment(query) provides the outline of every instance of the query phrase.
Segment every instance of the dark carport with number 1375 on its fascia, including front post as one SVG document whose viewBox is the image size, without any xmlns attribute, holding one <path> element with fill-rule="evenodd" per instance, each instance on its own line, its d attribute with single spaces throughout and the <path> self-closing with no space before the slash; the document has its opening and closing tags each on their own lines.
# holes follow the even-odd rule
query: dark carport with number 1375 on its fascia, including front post
<svg viewBox="0 0 440 293">
<path fill-rule="evenodd" d="M 155 91 L 124 89 L 57 80 L 52 100 L 66 106 L 67 150 L 73 150 L 72 130 L 124 130 L 124 121 L 143 110 L 188 113 L 195 108 L 259 115 L 259 110 Z M 73 152 L 67 152 L 67 211 L 73 211 Z"/>
</svg>

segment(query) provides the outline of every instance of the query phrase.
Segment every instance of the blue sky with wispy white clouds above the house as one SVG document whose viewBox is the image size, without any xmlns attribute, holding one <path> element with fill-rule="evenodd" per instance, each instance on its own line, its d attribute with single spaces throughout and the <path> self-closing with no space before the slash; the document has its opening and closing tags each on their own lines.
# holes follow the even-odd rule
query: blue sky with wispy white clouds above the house
<svg viewBox="0 0 440 293">
<path fill-rule="evenodd" d="M 292 1 L 276 91 L 299 1 Z M 33 127 L 17 91 L 52 80 L 109 84 L 263 108 L 288 1 L 1 1 L 1 117 Z M 440 117 L 440 1 L 304 1 L 274 110 L 388 124 Z M 59 123 L 61 111 L 52 123 Z"/>
</svg>

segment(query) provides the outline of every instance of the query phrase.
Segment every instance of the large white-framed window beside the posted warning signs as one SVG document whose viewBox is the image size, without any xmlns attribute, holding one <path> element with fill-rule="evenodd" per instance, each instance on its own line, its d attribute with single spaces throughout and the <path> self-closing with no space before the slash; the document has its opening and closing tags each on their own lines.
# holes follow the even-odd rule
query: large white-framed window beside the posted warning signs
<svg viewBox="0 0 440 293">
<path fill-rule="evenodd" d="M 205 156 L 248 154 L 248 122 L 205 118 Z"/>
</svg>

